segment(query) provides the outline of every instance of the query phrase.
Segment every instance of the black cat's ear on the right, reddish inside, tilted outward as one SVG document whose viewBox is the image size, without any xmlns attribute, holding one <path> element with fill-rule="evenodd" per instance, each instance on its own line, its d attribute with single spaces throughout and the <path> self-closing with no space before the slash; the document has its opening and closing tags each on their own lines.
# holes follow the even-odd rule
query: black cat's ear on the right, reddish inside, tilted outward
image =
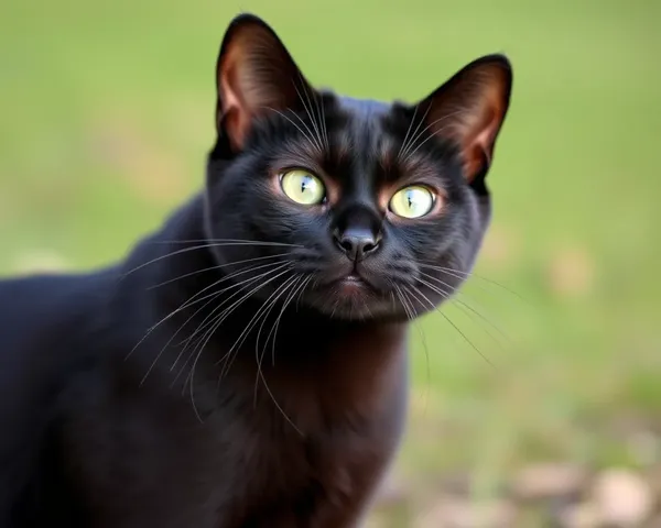
<svg viewBox="0 0 661 528">
<path fill-rule="evenodd" d="M 459 148 L 468 183 L 481 180 L 489 169 L 511 86 L 508 58 L 487 55 L 462 68 L 419 106 L 432 135 Z"/>
</svg>

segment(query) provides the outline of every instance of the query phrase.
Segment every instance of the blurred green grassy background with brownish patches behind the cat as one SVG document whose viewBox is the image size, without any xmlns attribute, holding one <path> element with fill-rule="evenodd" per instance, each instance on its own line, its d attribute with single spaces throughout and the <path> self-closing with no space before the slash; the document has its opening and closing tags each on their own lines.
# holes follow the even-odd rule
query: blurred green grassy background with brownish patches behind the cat
<svg viewBox="0 0 661 528">
<path fill-rule="evenodd" d="M 370 522 L 661 526 L 661 2 L 3 0 L 0 272 L 115 261 L 199 189 L 241 10 L 356 97 L 413 101 L 492 52 L 514 66 L 494 224 L 412 332 Z"/>
</svg>

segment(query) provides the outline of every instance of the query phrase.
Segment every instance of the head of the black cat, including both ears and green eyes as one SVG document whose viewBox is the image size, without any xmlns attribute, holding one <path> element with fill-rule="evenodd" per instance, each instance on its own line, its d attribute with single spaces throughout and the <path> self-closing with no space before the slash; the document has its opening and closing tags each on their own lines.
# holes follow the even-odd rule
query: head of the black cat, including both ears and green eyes
<svg viewBox="0 0 661 528">
<path fill-rule="evenodd" d="M 411 318 L 454 294 L 489 222 L 507 58 L 469 64 L 416 105 L 356 100 L 312 88 L 275 33 L 241 15 L 217 79 L 207 234 L 247 241 L 214 249 L 247 292 L 342 319 Z"/>
</svg>

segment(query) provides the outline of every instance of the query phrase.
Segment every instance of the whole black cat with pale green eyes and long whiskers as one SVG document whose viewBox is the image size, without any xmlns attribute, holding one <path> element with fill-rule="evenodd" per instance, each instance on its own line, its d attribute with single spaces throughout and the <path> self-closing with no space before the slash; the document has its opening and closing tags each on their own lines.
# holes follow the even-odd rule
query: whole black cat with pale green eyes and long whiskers
<svg viewBox="0 0 661 528">
<path fill-rule="evenodd" d="M 338 97 L 236 18 L 205 190 L 116 265 L 0 283 L 0 526 L 358 526 L 511 81 L 490 55 L 414 106 Z"/>
</svg>

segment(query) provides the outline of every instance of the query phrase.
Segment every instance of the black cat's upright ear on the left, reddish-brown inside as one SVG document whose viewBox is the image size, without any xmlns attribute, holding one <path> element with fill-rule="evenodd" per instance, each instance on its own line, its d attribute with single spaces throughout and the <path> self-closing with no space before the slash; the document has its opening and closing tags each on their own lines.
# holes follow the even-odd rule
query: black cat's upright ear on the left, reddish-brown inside
<svg viewBox="0 0 661 528">
<path fill-rule="evenodd" d="M 240 151 L 253 121 L 268 112 L 299 109 L 314 90 L 275 34 L 252 14 L 235 18 L 216 68 L 218 132 Z"/>
</svg>

